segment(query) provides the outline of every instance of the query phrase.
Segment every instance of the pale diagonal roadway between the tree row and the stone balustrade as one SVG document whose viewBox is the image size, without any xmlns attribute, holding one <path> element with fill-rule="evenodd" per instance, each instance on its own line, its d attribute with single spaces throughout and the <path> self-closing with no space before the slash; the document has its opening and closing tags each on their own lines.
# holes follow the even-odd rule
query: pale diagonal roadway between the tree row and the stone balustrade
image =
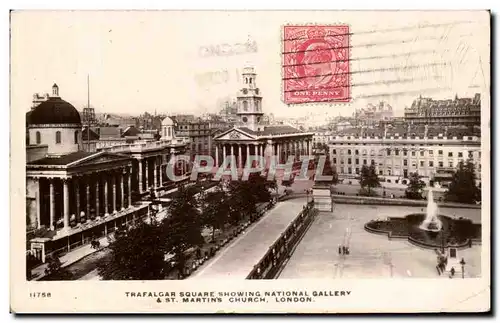
<svg viewBox="0 0 500 323">
<path fill-rule="evenodd" d="M 306 198 L 278 202 L 188 279 L 245 279 L 305 204 Z"/>
</svg>

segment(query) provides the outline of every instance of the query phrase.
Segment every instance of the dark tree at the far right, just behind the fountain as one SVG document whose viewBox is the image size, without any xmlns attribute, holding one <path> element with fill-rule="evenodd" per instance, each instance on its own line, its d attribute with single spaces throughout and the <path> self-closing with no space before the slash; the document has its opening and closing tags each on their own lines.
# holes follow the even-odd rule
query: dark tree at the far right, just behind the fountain
<svg viewBox="0 0 500 323">
<path fill-rule="evenodd" d="M 480 190 L 476 186 L 474 163 L 471 159 L 458 163 L 446 192 L 446 200 L 460 203 L 474 203 L 480 200 Z"/>
</svg>

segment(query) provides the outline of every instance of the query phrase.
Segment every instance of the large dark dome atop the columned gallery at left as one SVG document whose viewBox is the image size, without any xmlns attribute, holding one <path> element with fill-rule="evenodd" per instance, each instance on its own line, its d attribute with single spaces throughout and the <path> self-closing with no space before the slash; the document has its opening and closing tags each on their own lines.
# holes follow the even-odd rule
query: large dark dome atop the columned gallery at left
<svg viewBox="0 0 500 323">
<path fill-rule="evenodd" d="M 28 116 L 27 116 L 28 117 Z M 51 97 L 40 103 L 29 114 L 30 125 L 36 124 L 81 124 L 80 113 L 73 105 L 59 97 Z"/>
</svg>

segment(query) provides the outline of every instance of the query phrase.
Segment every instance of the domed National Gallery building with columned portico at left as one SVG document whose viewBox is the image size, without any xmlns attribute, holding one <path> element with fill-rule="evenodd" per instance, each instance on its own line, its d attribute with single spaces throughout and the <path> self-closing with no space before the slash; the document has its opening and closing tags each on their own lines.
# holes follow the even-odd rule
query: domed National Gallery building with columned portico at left
<svg viewBox="0 0 500 323">
<path fill-rule="evenodd" d="M 31 251 L 42 261 L 47 252 L 69 251 L 103 236 L 120 223 L 143 216 L 141 202 L 186 178 L 185 165 L 170 157 L 185 144 L 146 142 L 84 151 L 82 122 L 73 105 L 52 96 L 27 113 L 26 229 Z"/>
</svg>

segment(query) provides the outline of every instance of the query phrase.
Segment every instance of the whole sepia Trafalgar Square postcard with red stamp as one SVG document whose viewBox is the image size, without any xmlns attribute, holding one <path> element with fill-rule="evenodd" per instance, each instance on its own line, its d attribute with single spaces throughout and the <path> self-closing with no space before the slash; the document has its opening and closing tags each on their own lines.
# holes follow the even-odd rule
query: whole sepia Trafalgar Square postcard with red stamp
<svg viewBox="0 0 500 323">
<path fill-rule="evenodd" d="M 354 296 L 229 281 L 487 288 L 489 33 L 487 11 L 12 11 L 11 267 L 46 286 L 22 297 L 173 281 L 116 301 L 294 312 Z"/>
</svg>

